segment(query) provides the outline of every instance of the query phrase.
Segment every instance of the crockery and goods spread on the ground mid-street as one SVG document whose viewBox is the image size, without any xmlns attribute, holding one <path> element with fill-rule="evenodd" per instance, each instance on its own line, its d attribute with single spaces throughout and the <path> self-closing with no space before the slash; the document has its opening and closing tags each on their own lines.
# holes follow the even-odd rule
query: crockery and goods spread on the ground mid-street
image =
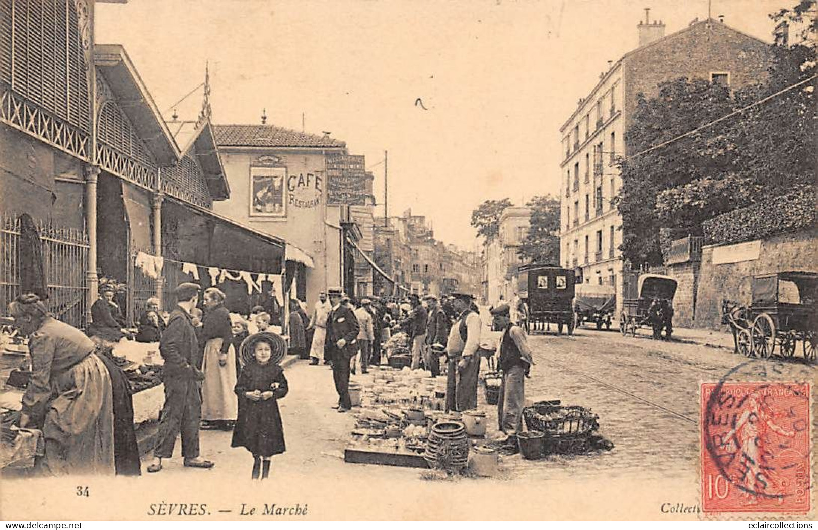
<svg viewBox="0 0 818 530">
<path fill-rule="evenodd" d="M 459 414 L 443 410 L 446 377 L 408 367 L 371 367 L 361 381 L 350 385 L 353 405 L 360 408 L 353 409 L 356 424 L 344 461 L 429 467 L 427 451 L 440 445 L 434 426 L 460 421 Z M 455 458 L 458 464 L 461 459 Z"/>
</svg>

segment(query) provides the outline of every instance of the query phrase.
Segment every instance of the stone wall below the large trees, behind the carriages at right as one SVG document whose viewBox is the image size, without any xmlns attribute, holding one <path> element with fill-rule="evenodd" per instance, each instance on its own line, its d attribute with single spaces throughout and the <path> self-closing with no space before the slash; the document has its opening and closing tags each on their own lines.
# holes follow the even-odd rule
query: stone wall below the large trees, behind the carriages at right
<svg viewBox="0 0 818 530">
<path fill-rule="evenodd" d="M 703 247 L 696 291 L 695 327 L 721 329 L 722 299 L 749 305 L 754 275 L 783 270 L 818 272 L 816 240 L 818 229 L 815 228 L 794 234 L 780 234 L 762 240 L 757 260 L 724 265 L 712 264 L 713 250 L 717 246 Z M 678 322 L 685 325 L 681 320 Z"/>
</svg>

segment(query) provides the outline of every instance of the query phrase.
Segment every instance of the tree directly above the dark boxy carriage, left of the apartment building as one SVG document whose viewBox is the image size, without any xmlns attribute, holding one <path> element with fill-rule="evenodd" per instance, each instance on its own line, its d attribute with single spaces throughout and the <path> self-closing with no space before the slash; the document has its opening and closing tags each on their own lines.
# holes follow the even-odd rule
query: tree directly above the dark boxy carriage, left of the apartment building
<svg viewBox="0 0 818 530">
<path fill-rule="evenodd" d="M 545 195 L 534 197 L 526 206 L 531 208 L 528 234 L 517 253 L 525 260 L 540 264 L 560 263 L 560 199 Z"/>
</svg>

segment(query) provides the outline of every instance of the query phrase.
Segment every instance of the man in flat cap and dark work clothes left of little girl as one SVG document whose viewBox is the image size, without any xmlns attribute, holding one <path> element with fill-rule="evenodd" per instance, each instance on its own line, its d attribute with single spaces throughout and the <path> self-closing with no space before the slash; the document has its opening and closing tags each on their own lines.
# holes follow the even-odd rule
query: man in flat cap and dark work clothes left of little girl
<svg viewBox="0 0 818 530">
<path fill-rule="evenodd" d="M 162 382 L 164 406 L 156 434 L 154 461 L 150 473 L 162 469 L 162 459 L 173 456 L 176 437 L 182 434 L 182 457 L 186 467 L 213 467 L 213 462 L 199 454 L 199 423 L 201 421 L 201 381 L 205 374 L 199 369 L 199 341 L 191 322 L 191 311 L 199 302 L 198 283 L 180 283 L 174 290 L 177 307 L 170 314 L 159 343 L 164 359 Z"/>
</svg>

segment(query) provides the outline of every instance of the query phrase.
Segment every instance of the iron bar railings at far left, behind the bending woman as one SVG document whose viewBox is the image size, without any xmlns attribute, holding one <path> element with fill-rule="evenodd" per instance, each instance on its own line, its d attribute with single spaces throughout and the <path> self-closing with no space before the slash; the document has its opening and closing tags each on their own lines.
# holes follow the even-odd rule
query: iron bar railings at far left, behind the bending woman
<svg viewBox="0 0 818 530">
<path fill-rule="evenodd" d="M 43 270 L 48 288 L 48 310 L 74 327 L 85 324 L 85 269 L 88 235 L 50 221 L 34 220 L 43 242 Z M 0 214 L 0 307 L 20 294 L 20 220 Z"/>
</svg>

